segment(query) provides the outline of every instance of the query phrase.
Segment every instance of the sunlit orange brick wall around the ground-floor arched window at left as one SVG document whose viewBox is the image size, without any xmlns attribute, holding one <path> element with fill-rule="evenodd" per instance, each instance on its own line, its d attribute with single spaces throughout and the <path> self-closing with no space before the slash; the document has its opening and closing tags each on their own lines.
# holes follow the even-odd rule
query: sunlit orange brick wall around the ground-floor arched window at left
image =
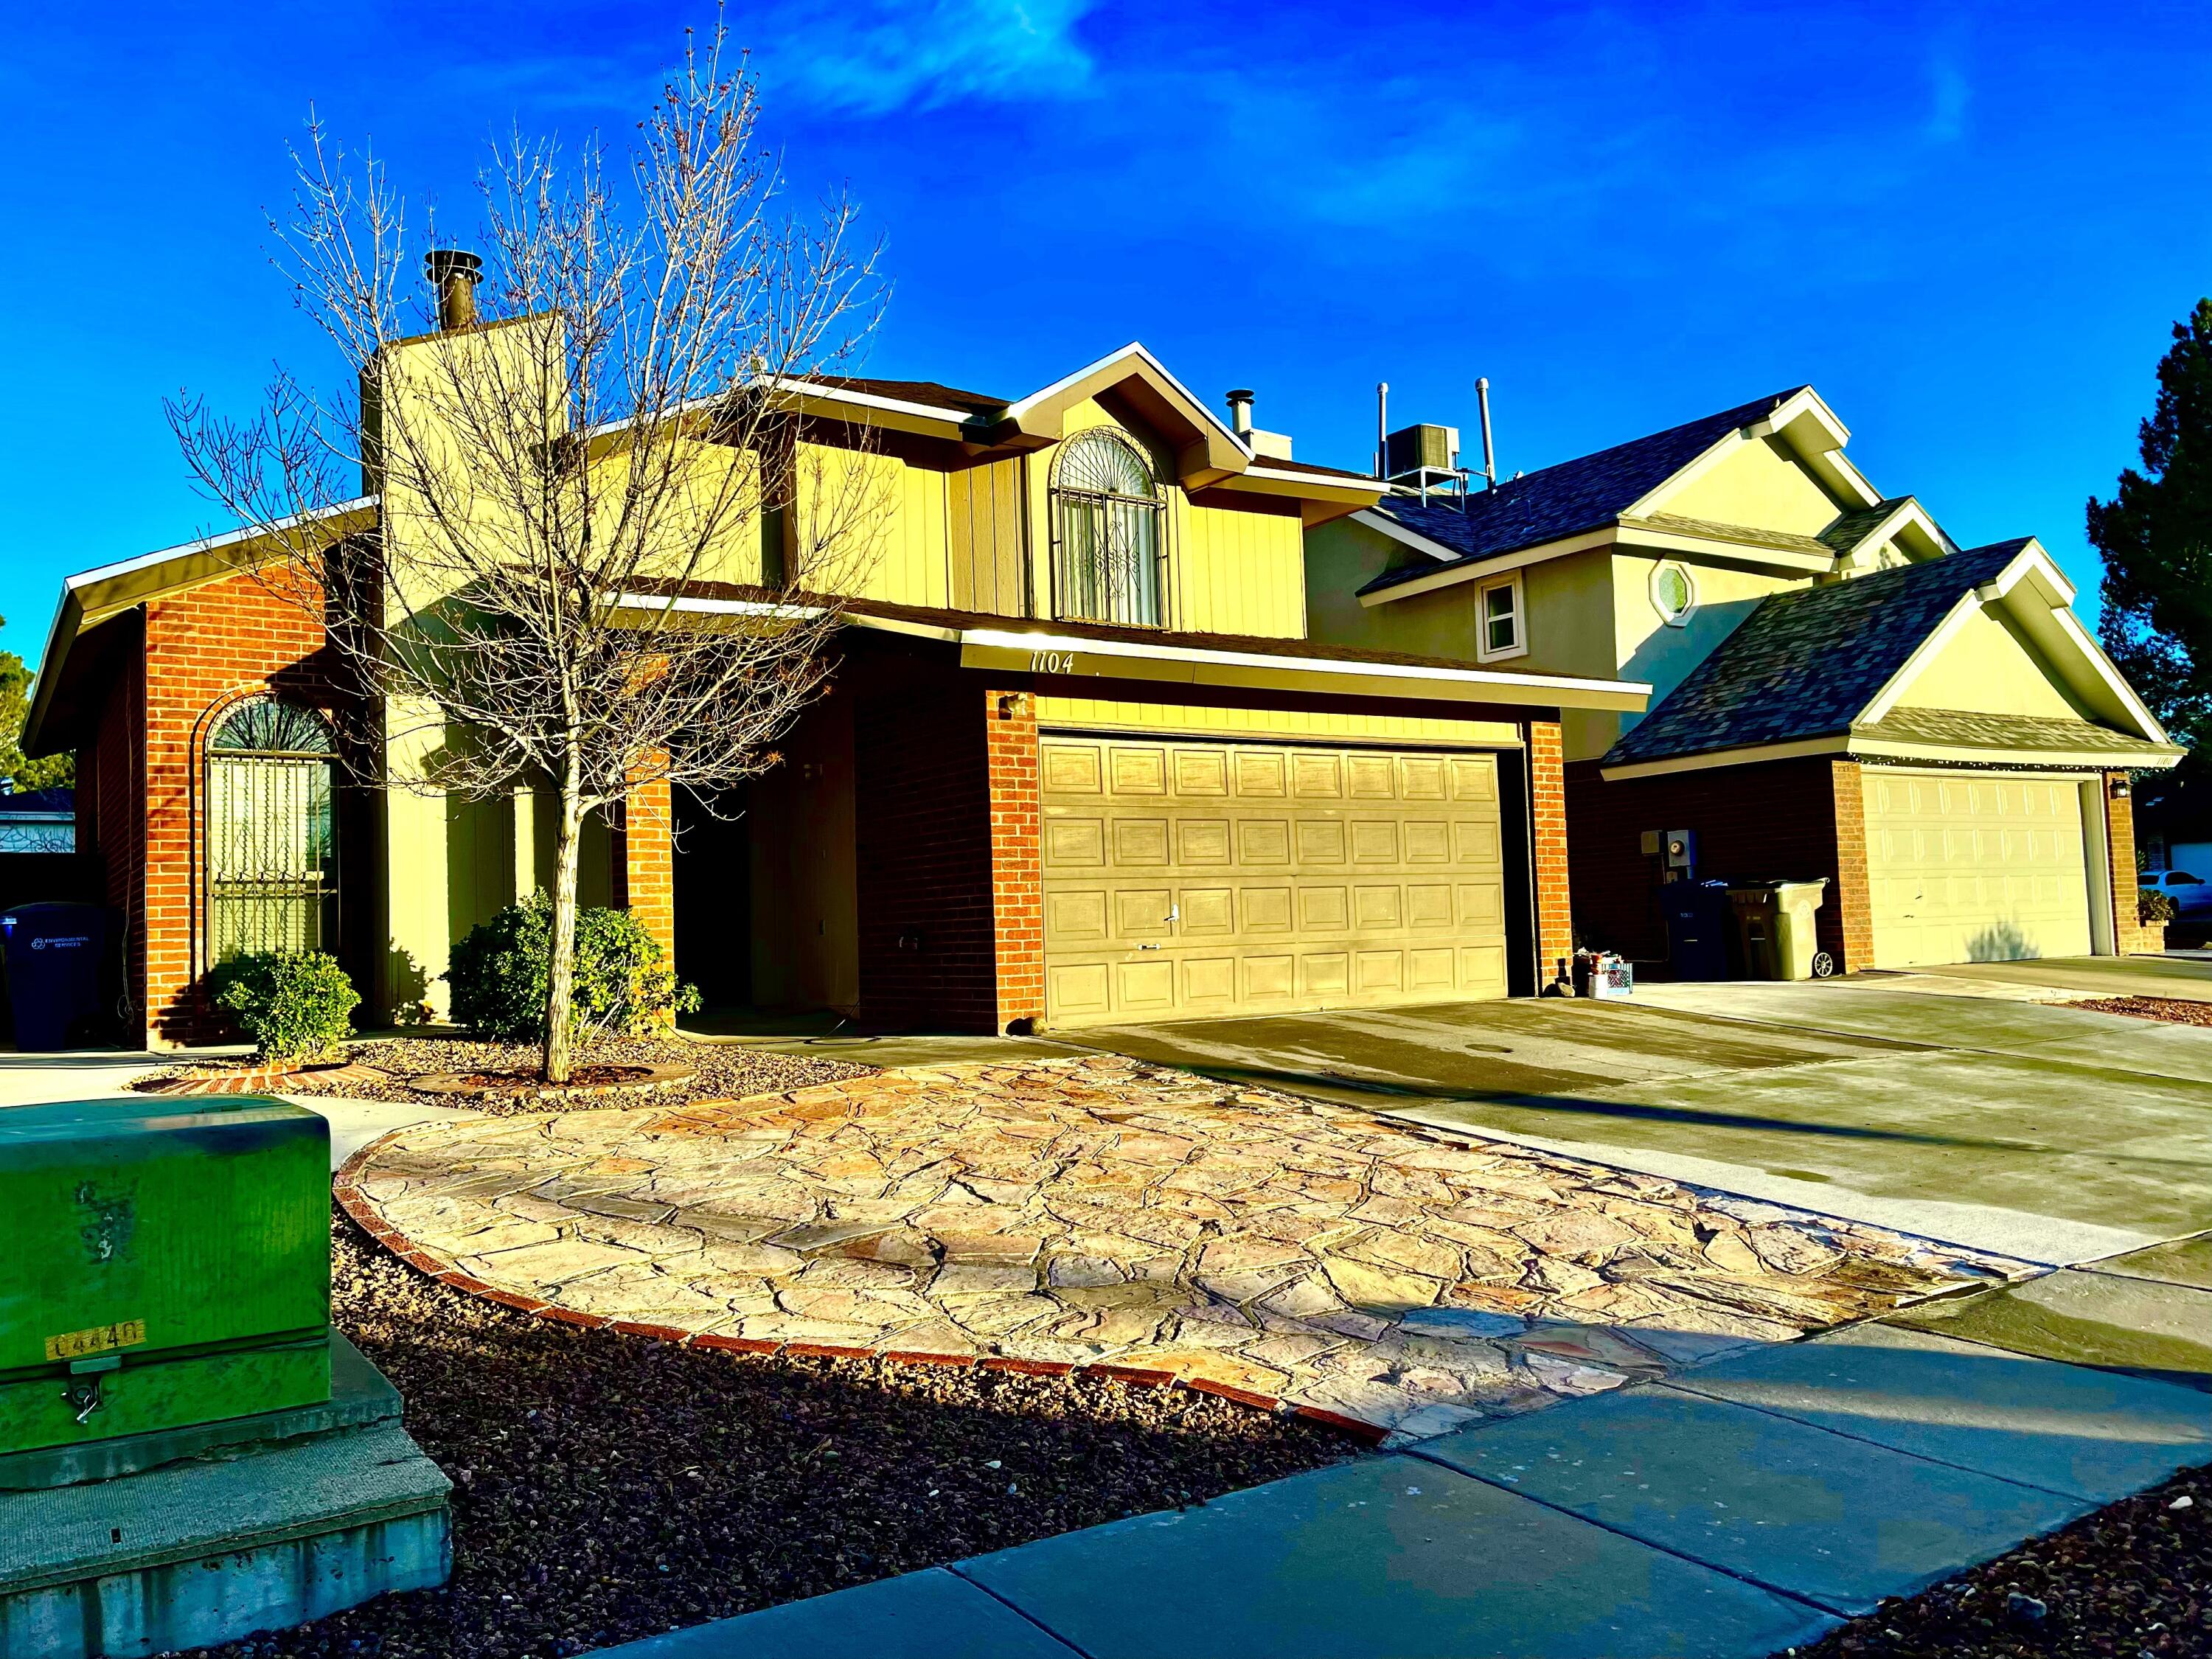
<svg viewBox="0 0 2212 1659">
<path fill-rule="evenodd" d="M 206 891 L 201 883 L 204 761 L 208 734 L 241 697 L 274 690 L 312 708 L 334 708 L 323 624 L 292 597 L 252 575 L 146 604 L 142 734 L 142 902 L 131 907 L 131 962 L 137 980 L 137 1040 L 206 1042 L 221 1026 L 199 998 L 206 971 Z M 117 750 L 131 741 L 117 714 Z M 122 765 L 100 739 L 100 768 Z M 106 852 L 106 849 L 104 849 Z M 338 863 L 365 849 L 338 847 Z M 115 854 L 108 852 L 108 858 Z M 128 883 L 124 883 L 128 885 Z M 354 918 L 341 918 L 341 927 Z"/>
</svg>

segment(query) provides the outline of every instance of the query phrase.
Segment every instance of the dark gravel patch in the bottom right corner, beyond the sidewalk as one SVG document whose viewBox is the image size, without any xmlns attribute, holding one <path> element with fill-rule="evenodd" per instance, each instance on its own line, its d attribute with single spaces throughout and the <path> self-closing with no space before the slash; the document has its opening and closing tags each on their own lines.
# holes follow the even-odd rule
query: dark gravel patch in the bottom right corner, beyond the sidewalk
<svg viewBox="0 0 2212 1659">
<path fill-rule="evenodd" d="M 2179 1659 L 2212 1652 L 2212 1467 L 2124 1498 L 1933 1590 L 1887 1601 L 1801 1659 Z"/>
</svg>

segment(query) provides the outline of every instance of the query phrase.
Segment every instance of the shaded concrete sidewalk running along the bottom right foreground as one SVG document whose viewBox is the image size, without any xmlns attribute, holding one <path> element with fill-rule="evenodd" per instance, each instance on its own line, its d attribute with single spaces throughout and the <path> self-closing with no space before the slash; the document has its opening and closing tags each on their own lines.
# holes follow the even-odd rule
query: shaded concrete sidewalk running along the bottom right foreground
<svg viewBox="0 0 2212 1659">
<path fill-rule="evenodd" d="M 2006 1316 L 2057 1279 L 2066 1321 Z M 2168 1340 L 2208 1285 L 2170 1245 L 606 1652 L 1759 1659 L 2212 1462 L 2212 1345 Z M 2099 1369 L 2146 1323 L 2166 1378 Z"/>
</svg>

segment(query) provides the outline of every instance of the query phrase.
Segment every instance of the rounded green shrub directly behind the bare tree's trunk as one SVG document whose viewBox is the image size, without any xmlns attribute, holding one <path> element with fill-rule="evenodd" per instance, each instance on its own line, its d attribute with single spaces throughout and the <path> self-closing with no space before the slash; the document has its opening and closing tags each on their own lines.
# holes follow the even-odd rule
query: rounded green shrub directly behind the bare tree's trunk
<svg viewBox="0 0 2212 1659">
<path fill-rule="evenodd" d="M 551 945 L 553 900 L 546 894 L 531 894 L 471 929 L 453 947 L 445 971 L 453 987 L 453 1020 L 493 1042 L 544 1042 Z M 661 942 L 635 916 L 577 909 L 575 984 L 568 995 L 577 1037 L 670 1031 L 679 1013 L 697 1006 L 699 991 L 677 984 Z"/>
</svg>

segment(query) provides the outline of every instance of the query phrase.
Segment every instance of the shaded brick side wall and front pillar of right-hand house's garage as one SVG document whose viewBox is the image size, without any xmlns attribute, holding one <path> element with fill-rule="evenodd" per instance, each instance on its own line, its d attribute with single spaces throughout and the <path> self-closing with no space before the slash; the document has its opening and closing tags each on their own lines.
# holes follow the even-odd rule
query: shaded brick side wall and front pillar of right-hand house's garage
<svg viewBox="0 0 2212 1659">
<path fill-rule="evenodd" d="M 1595 761 L 1566 768 L 1575 931 L 1644 962 L 1666 958 L 1657 867 L 1646 830 L 1694 830 L 1699 874 L 1827 878 L 1816 931 L 1838 973 L 1874 964 L 1867 832 L 1856 761 L 1805 757 L 1606 783 Z"/>
</svg>

